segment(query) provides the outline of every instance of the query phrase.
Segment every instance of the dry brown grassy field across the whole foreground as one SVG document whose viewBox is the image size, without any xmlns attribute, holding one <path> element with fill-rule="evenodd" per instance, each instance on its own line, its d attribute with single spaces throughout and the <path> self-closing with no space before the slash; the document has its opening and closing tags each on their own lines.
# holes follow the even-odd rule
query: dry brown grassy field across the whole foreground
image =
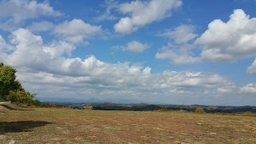
<svg viewBox="0 0 256 144">
<path fill-rule="evenodd" d="M 0 143 L 256 143 L 256 117 L 12 107 Z"/>
</svg>

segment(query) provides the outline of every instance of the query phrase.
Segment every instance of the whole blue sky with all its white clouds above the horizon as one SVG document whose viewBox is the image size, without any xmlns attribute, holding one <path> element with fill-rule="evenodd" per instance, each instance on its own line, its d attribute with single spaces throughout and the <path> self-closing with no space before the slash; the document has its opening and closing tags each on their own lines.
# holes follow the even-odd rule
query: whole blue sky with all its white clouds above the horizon
<svg viewBox="0 0 256 144">
<path fill-rule="evenodd" d="M 0 61 L 42 98 L 256 106 L 256 1 L 0 1 Z"/>
</svg>

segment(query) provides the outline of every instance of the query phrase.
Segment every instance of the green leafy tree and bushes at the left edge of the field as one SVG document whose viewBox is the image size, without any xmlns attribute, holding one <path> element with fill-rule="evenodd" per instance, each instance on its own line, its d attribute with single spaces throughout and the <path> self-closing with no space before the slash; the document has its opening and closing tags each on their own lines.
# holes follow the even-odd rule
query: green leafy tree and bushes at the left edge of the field
<svg viewBox="0 0 256 144">
<path fill-rule="evenodd" d="M 24 90 L 22 83 L 16 79 L 16 72 L 13 67 L 0 62 L 0 98 L 10 102 L 33 104 L 35 94 Z"/>
</svg>

